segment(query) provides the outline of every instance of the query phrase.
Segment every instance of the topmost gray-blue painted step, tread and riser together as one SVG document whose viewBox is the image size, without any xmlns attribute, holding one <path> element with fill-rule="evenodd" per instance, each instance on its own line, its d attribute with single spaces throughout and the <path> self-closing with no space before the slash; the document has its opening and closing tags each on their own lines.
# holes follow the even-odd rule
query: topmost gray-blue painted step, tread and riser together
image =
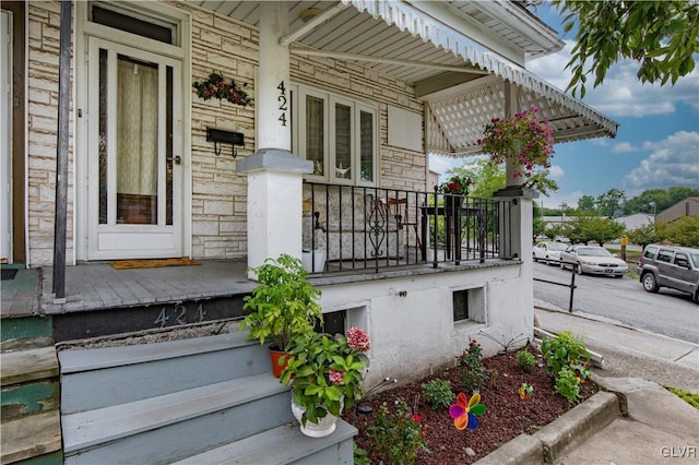
<svg viewBox="0 0 699 465">
<path fill-rule="evenodd" d="M 61 350 L 63 415 L 108 407 L 271 370 L 248 333 L 156 344 Z"/>
</svg>

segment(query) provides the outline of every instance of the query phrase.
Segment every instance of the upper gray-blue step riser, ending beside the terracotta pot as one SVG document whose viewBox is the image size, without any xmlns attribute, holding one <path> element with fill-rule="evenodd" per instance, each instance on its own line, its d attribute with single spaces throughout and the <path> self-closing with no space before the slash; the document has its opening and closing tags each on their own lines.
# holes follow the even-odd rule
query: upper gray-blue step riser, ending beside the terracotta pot
<svg viewBox="0 0 699 465">
<path fill-rule="evenodd" d="M 63 374 L 61 410 L 63 414 L 72 414 L 102 408 L 270 370 L 268 348 L 252 344 L 173 359 Z"/>
</svg>

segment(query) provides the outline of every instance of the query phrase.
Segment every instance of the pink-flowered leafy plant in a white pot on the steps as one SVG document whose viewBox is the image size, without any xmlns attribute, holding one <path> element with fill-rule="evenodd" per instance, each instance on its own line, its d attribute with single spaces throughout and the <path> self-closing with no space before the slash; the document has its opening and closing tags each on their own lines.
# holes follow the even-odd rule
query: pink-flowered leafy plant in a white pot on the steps
<svg viewBox="0 0 699 465">
<path fill-rule="evenodd" d="M 358 327 L 346 336 L 309 331 L 294 339 L 281 382 L 292 385 L 292 412 L 304 434 L 331 434 L 342 409 L 362 397 L 369 348 L 369 336 Z"/>
</svg>

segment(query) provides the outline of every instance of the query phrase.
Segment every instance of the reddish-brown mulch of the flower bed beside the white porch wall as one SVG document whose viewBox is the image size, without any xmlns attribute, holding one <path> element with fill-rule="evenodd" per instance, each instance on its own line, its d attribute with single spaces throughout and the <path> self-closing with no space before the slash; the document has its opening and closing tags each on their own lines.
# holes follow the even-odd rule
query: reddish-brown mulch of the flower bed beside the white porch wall
<svg viewBox="0 0 699 465">
<path fill-rule="evenodd" d="M 538 360 L 541 365 L 541 358 Z M 491 375 L 481 390 L 481 404 L 486 406 L 486 412 L 477 417 L 479 425 L 475 430 L 458 430 L 449 409 L 434 410 L 422 394 L 420 385 L 437 378 L 449 380 L 454 393 L 461 392 L 461 367 L 457 367 L 372 396 L 367 401 L 374 409 L 371 414 L 345 412 L 343 418 L 359 430 L 357 445 L 369 453 L 371 463 L 378 464 L 382 460 L 388 463 L 372 450 L 368 430 L 381 404 L 386 402 L 389 408 L 393 408 L 396 398 L 403 398 L 413 408 L 413 414 L 419 415 L 429 450 L 429 453 L 418 451 L 416 463 L 420 465 L 474 463 L 520 433 L 534 433 L 574 407 L 555 393 L 554 377 L 546 372 L 545 367 L 535 366 L 526 373 L 519 366 L 516 354 L 494 356 L 483 362 Z M 518 390 L 522 383 L 533 388 L 531 398 L 520 398 Z M 594 383 L 584 382 L 581 402 L 597 391 Z"/>
</svg>

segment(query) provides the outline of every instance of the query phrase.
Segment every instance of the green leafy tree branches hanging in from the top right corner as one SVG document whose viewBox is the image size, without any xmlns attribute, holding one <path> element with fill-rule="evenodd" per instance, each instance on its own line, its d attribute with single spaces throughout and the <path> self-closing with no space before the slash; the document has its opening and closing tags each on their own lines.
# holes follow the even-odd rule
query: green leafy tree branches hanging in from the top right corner
<svg viewBox="0 0 699 465">
<path fill-rule="evenodd" d="M 568 90 L 585 95 L 588 75 L 594 87 L 620 58 L 639 62 L 642 83 L 674 85 L 695 69 L 699 52 L 699 4 L 687 0 L 579 1 L 554 0 L 564 16 L 564 34 L 577 25 Z"/>
</svg>

